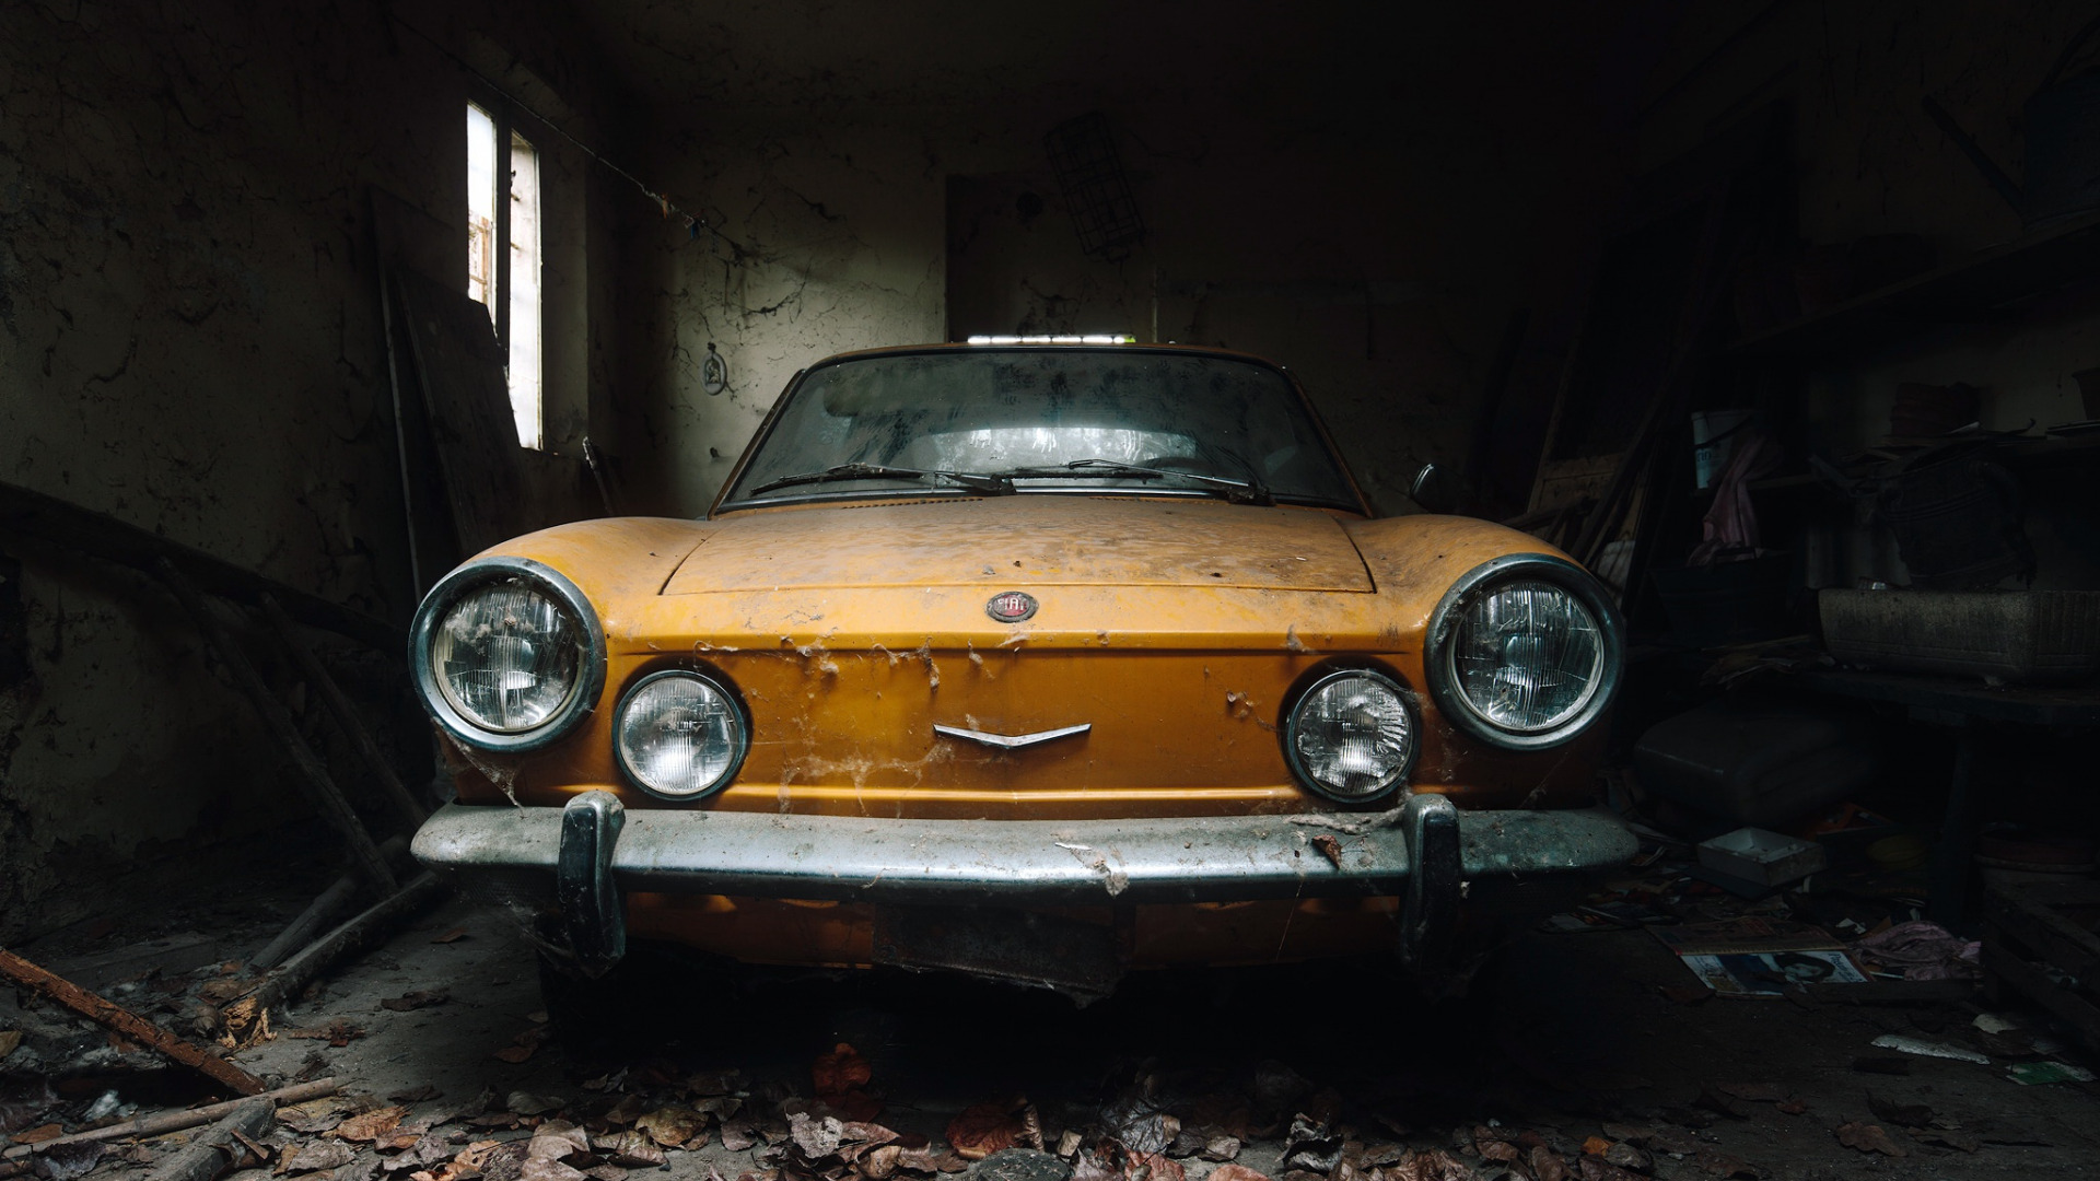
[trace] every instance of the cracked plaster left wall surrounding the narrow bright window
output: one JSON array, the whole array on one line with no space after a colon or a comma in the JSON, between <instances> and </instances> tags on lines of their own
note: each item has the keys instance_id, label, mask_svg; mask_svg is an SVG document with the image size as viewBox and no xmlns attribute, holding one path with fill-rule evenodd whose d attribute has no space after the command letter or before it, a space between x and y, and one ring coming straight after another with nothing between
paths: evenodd
<instances>
[{"instance_id":1,"label":"cracked plaster left wall surrounding the narrow bright window","mask_svg":"<svg viewBox=\"0 0 2100 1181\"><path fill-rule=\"evenodd\" d=\"M588 118L594 65L559 13L416 8ZM384 13L0 6L0 479L405 620L365 193L462 225L466 74ZM556 301L590 305L565 267ZM590 416L588 326L563 332L556 443ZM536 467L548 506L573 500L565 462ZM0 939L80 906L69 885L304 811L164 590L0 553Z\"/></svg>"}]
</instances>

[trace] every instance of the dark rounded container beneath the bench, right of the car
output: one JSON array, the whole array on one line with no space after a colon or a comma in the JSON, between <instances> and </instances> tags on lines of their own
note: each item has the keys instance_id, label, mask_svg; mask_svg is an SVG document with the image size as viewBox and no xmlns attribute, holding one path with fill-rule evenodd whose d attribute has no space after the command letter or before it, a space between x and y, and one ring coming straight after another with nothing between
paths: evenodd
<instances>
[{"instance_id":1,"label":"dark rounded container beneath the bench, right of the car","mask_svg":"<svg viewBox=\"0 0 2100 1181\"><path fill-rule=\"evenodd\" d=\"M1844 801L1880 769L1852 714L1718 700L1665 719L1634 744L1640 786L1732 824L1789 824Z\"/></svg>"}]
</instances>

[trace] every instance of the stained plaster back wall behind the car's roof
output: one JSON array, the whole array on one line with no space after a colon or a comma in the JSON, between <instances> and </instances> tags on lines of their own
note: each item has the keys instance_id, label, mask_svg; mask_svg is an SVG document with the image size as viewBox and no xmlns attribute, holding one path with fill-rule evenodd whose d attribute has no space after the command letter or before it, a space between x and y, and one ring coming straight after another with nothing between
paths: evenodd
<instances>
[{"instance_id":1,"label":"stained plaster back wall behind the car's roof","mask_svg":"<svg viewBox=\"0 0 2100 1181\"><path fill-rule=\"evenodd\" d=\"M632 284L664 305L634 324L620 410L662 513L706 511L808 361L951 330L1153 338L1155 290L1159 338L1298 370L1373 502L1409 511L1422 460L1466 462L1512 311L1571 298L1625 174L1598 63L1636 6L1529 6L1520 29L1218 11L1212 32L1163 11L1092 23L1090 4L907 6L899 32L777 4L704 40L662 4L613 8L609 53L695 95L657 113L643 170L733 237L634 233ZM769 69L796 38L832 57ZM1117 128L1151 231L1119 263L1079 252L1044 151L1088 109ZM699 380L710 343L722 395Z\"/></svg>"}]
</instances>

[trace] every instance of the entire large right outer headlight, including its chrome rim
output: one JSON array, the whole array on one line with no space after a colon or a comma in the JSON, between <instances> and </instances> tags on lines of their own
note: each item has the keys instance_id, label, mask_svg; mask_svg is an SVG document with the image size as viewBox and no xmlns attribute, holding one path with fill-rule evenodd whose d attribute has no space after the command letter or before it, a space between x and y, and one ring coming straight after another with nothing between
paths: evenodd
<instances>
[{"instance_id":1,"label":"entire large right outer headlight, including its chrome rim","mask_svg":"<svg viewBox=\"0 0 2100 1181\"><path fill-rule=\"evenodd\" d=\"M1445 717L1514 748L1567 742L1609 704L1619 624L1581 567L1497 559L1445 597L1430 628L1430 689Z\"/></svg>"}]
</instances>

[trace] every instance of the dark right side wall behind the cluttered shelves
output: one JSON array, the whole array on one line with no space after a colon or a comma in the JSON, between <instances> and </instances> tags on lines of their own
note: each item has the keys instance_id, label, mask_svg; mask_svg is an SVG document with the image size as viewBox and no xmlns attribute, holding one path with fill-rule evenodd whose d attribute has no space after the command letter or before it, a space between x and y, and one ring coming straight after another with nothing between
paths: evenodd
<instances>
[{"instance_id":1,"label":"dark right side wall behind the cluttered shelves","mask_svg":"<svg viewBox=\"0 0 2100 1181\"><path fill-rule=\"evenodd\" d=\"M2022 177L2022 105L2041 86L2090 4L1787 4L1714 6L1686 25L1659 78L1684 84L1659 101L1642 156L1657 164L1760 103L1793 111L1798 219L1808 244L1873 233L1919 233L1938 263L2020 237L2020 216L1922 109L1926 95L2016 181ZM1737 36L1737 32L1741 36ZM2087 44L2066 74L2100 65ZM2085 418L2073 372L2100 366L2100 301L2045 298L2026 319L1947 326L1894 347L1838 355L1806 385L1802 443L1846 454L1888 435L1903 382L1968 382L1982 389L1982 427L2020 431ZM2092 477L2056 475L2031 485L2029 534L2037 586L2100 584L2100 534ZM2068 513L2060 506L2071 506ZM1907 580L1886 534L1842 523L1812 540L1810 584L1854 578Z\"/></svg>"}]
</instances>

